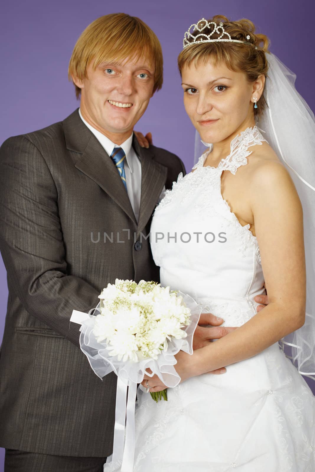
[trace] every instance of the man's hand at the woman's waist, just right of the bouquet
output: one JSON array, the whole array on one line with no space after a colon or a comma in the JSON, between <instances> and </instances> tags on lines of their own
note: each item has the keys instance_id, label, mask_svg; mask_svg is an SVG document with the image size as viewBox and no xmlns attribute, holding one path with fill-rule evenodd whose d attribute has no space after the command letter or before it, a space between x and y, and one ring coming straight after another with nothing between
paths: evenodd
<instances>
[{"instance_id":1,"label":"man's hand at the woman's waist, just right of the bouquet","mask_svg":"<svg viewBox=\"0 0 315 472\"><path fill-rule=\"evenodd\" d=\"M234 331L237 327L220 326L223 323L223 319L218 316L214 316L212 313L201 313L198 326L195 330L193 338L193 349L200 349L201 347L207 346L213 339L220 339L226 336L231 331ZM212 371L212 374L224 374L226 372L225 367Z\"/></svg>"}]
</instances>

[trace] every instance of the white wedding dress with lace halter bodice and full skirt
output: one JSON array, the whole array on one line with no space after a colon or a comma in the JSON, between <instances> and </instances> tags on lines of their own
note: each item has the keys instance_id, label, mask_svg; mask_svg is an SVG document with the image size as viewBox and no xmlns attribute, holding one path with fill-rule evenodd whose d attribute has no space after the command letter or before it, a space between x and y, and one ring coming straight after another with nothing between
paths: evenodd
<instances>
[{"instance_id":1,"label":"white wedding dress with lace halter bodice and full skirt","mask_svg":"<svg viewBox=\"0 0 315 472\"><path fill-rule=\"evenodd\" d=\"M262 141L256 126L247 128L218 168L203 167L202 155L153 215L162 286L191 295L225 326L255 316L264 276L256 237L221 196L221 173L235 174L247 164L247 148ZM134 471L314 472L315 397L278 343L223 375L169 388L167 402L138 389Z\"/></svg>"}]
</instances>

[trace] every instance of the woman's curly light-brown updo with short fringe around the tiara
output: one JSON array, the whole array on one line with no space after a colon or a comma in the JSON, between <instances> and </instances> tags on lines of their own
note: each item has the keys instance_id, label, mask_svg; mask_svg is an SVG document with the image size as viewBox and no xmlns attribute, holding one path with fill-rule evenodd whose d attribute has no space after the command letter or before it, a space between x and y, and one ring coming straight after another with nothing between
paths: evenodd
<instances>
[{"instance_id":1,"label":"woman's curly light-brown updo with short fringe around the tiara","mask_svg":"<svg viewBox=\"0 0 315 472\"><path fill-rule=\"evenodd\" d=\"M190 66L194 61L195 66L202 61L206 63L209 59L214 65L225 63L225 65L234 72L244 72L248 82L254 82L258 76L264 75L267 78L268 62L266 52L268 52L269 39L264 34L255 34L255 25L252 21L241 19L238 21L229 21L227 17L215 15L208 20L216 23L218 26L222 22L224 30L230 34L231 39L247 41L253 44L244 44L239 42L200 42L198 38L193 46L188 46L180 52L178 57L178 67L181 74L184 66ZM203 34L209 35L214 29L207 26L202 30ZM192 36L200 34L199 31L192 33ZM220 34L213 33L211 39L219 38ZM247 38L249 36L249 38ZM188 38L188 42L193 42L192 38ZM257 47L257 49L255 48ZM267 107L264 98L264 92L258 101L258 108L254 108L255 116L261 116Z\"/></svg>"}]
</instances>

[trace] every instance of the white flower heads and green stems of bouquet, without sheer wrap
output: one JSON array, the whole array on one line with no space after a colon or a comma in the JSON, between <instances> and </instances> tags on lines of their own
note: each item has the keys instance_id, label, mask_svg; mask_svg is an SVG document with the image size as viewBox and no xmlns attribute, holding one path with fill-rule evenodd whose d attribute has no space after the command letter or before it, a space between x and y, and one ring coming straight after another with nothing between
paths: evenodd
<instances>
[{"instance_id":1,"label":"white flower heads and green stems of bouquet, without sheer wrap","mask_svg":"<svg viewBox=\"0 0 315 472\"><path fill-rule=\"evenodd\" d=\"M190 310L170 287L156 282L119 280L102 290L100 314L95 317L94 335L106 342L110 356L118 361L157 359L172 338L187 337L182 328L190 324ZM166 390L151 393L155 401L167 400Z\"/></svg>"}]
</instances>

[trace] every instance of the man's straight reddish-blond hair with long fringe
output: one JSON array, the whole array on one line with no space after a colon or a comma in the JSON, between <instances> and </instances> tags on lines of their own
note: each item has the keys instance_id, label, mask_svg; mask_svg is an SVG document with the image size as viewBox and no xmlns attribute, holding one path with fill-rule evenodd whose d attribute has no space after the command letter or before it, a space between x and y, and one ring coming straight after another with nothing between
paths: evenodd
<instances>
[{"instance_id":1,"label":"man's straight reddish-blond hair with long fringe","mask_svg":"<svg viewBox=\"0 0 315 472\"><path fill-rule=\"evenodd\" d=\"M156 34L140 18L130 17L126 13L105 15L88 25L77 40L69 62L68 78L72 82L72 76L83 80L92 60L95 70L105 60L123 61L128 57L138 60L144 54L155 67L155 92L162 88L163 83L162 48ZM76 84L75 87L79 98L81 89Z\"/></svg>"}]
</instances>

